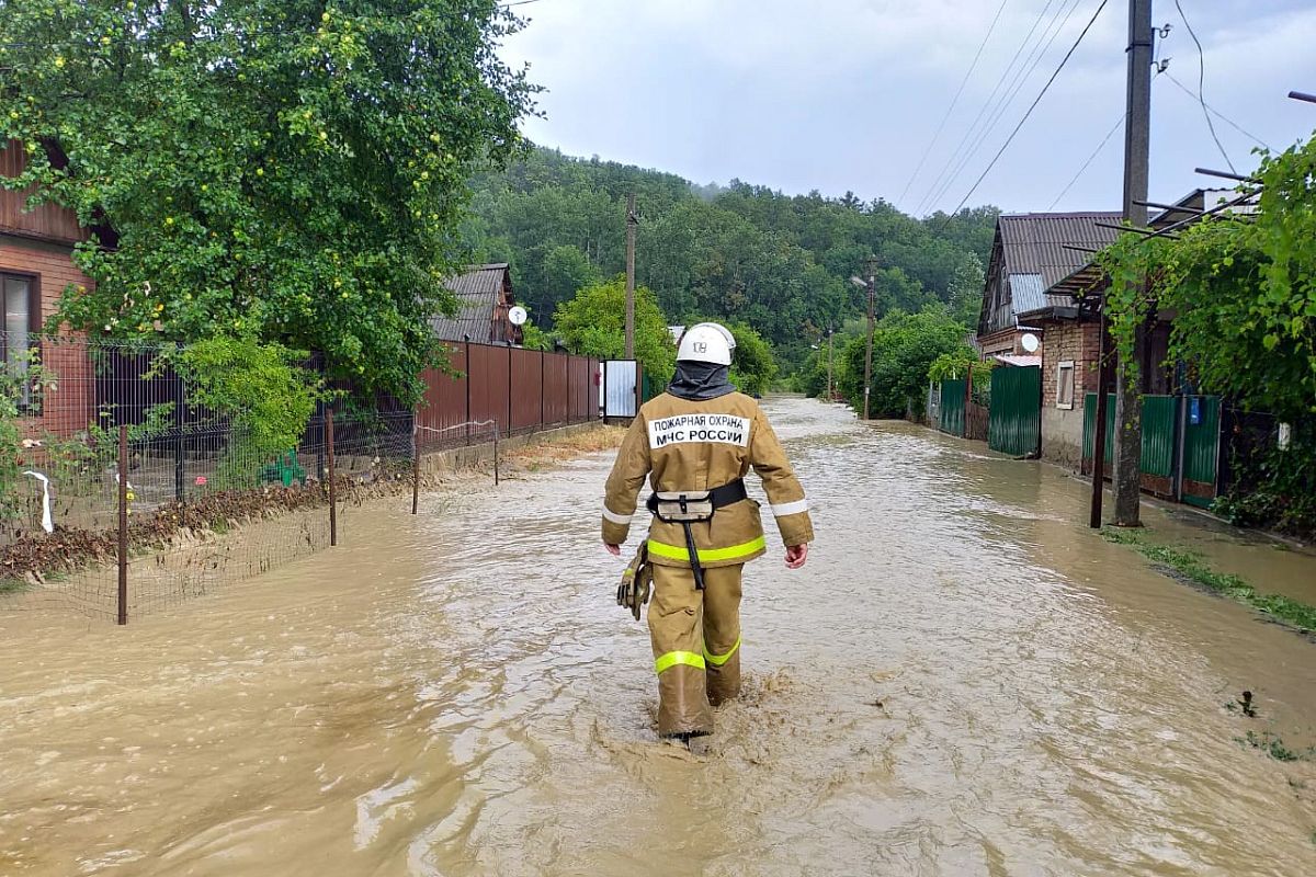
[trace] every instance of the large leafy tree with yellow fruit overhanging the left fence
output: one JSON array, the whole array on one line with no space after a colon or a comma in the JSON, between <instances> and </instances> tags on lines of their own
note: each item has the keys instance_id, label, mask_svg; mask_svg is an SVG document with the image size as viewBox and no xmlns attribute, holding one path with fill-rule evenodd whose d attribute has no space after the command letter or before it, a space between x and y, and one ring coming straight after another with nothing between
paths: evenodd
<instances>
[{"instance_id":1,"label":"large leafy tree with yellow fruit overhanging the left fence","mask_svg":"<svg viewBox=\"0 0 1316 877\"><path fill-rule=\"evenodd\" d=\"M59 317L320 350L415 396L466 181L532 109L495 51L516 25L491 0L0 4L0 120L26 153L4 184L95 231L95 289Z\"/></svg>"}]
</instances>

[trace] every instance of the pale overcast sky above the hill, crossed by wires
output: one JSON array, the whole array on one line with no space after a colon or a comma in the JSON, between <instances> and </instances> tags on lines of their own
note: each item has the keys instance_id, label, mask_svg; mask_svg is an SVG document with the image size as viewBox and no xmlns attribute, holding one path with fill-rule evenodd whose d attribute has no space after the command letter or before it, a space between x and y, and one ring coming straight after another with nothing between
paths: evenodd
<instances>
[{"instance_id":1,"label":"pale overcast sky above the hill, crossed by wires","mask_svg":"<svg viewBox=\"0 0 1316 877\"><path fill-rule=\"evenodd\" d=\"M1277 150L1309 137L1316 104L1286 95L1316 92L1316 3L1180 1L1205 50L1207 103ZM969 193L1099 4L536 0L517 7L528 25L503 55L529 63L532 80L547 89L540 96L545 118L525 125L537 143L696 183L738 178L829 196L851 189L924 214L953 209ZM929 151L998 9L978 66ZM1163 201L1209 183L1194 175L1195 166L1223 168L1225 160L1195 96L1198 50L1174 0L1155 0L1154 20L1173 25L1158 39L1159 55L1171 62L1152 97L1152 200ZM1051 204L1124 114L1126 29L1128 0L1108 0L970 206L1120 208L1123 129ZM1013 68L1024 75L1013 100L983 114L995 128L966 150L970 158L954 176L957 147L994 88L998 97L1015 91L1016 72L1005 72L1021 45ZM1255 142L1219 117L1215 124L1234 164L1254 167Z\"/></svg>"}]
</instances>

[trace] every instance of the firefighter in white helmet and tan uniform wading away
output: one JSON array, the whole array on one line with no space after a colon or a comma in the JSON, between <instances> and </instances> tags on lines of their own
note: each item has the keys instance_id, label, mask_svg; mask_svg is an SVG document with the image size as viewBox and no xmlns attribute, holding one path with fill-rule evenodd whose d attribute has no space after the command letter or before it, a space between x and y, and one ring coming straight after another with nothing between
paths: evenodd
<instances>
[{"instance_id":1,"label":"firefighter in white helmet and tan uniform wading away","mask_svg":"<svg viewBox=\"0 0 1316 877\"><path fill-rule=\"evenodd\" d=\"M751 467L763 481L790 569L804 565L813 540L804 489L772 427L758 404L730 384L734 346L717 323L686 331L671 385L641 406L621 443L603 506L603 543L620 556L649 479L646 506L654 518L619 602L629 600L638 618L647 593L634 584L644 581L647 592L651 580L658 735L686 743L712 732L709 706L740 693L741 572L766 551L759 504L745 493Z\"/></svg>"}]
</instances>

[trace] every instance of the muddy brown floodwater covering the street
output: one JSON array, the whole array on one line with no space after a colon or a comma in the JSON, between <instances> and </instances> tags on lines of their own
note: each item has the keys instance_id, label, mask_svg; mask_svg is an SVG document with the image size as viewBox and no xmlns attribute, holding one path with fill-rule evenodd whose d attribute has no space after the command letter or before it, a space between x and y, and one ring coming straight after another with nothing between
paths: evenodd
<instances>
[{"instance_id":1,"label":"muddy brown floodwater covering the street","mask_svg":"<svg viewBox=\"0 0 1316 877\"><path fill-rule=\"evenodd\" d=\"M819 542L751 567L701 753L654 742L596 456L126 628L0 615L0 874L1316 873L1316 765L1236 742L1316 743L1316 644L1076 526L1057 469L769 408Z\"/></svg>"}]
</instances>

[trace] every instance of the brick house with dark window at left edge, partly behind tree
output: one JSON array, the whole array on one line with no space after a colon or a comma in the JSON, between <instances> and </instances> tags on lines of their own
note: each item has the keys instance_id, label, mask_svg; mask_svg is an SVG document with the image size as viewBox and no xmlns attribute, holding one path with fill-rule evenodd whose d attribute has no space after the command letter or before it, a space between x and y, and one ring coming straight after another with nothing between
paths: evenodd
<instances>
[{"instance_id":1,"label":"brick house with dark window at left edge, partly behind tree","mask_svg":"<svg viewBox=\"0 0 1316 877\"><path fill-rule=\"evenodd\" d=\"M0 149L0 175L16 176L26 166L22 145L11 141ZM86 429L92 417L92 369L80 346L57 346L38 341L46 318L55 312L61 293L70 284L93 284L72 262L74 245L87 239L71 210L50 204L26 209L28 192L0 189L0 298L4 326L0 359L9 369L22 369L32 356L59 377L39 406L30 406L26 430L72 434ZM38 350L32 350L34 346Z\"/></svg>"}]
</instances>

